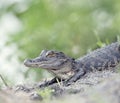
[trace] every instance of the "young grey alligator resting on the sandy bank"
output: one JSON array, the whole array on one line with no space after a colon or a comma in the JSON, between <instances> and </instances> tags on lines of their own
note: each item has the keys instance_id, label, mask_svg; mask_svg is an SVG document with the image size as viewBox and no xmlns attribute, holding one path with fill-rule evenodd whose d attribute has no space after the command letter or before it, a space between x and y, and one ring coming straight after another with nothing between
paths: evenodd
<instances>
[{"instance_id":1,"label":"young grey alligator resting on the sandy bank","mask_svg":"<svg viewBox=\"0 0 120 103\"><path fill-rule=\"evenodd\" d=\"M77 81L87 72L94 70L113 69L120 62L120 44L112 43L97 49L79 59L66 56L63 52L43 50L35 59L26 59L27 67L44 68L51 72L55 78L43 84L44 86L56 82L56 78L65 80L69 85Z\"/></svg>"}]
</instances>

